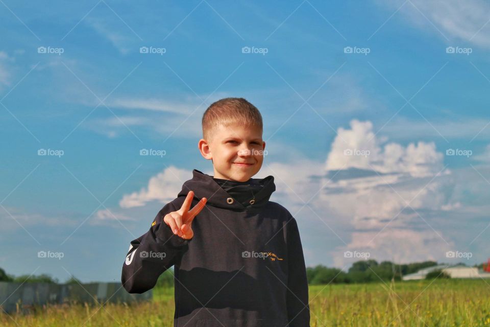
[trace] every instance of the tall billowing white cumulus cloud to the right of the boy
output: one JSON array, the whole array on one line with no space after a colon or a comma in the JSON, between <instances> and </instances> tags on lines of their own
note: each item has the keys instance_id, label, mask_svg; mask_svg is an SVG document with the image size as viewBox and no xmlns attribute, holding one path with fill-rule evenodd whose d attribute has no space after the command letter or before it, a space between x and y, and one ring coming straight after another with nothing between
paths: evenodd
<instances>
[{"instance_id":1,"label":"tall billowing white cumulus cloud to the right of the boy","mask_svg":"<svg viewBox=\"0 0 490 327\"><path fill-rule=\"evenodd\" d=\"M344 256L347 250L409 262L440 257L449 248L443 232L419 213L451 206L444 192L451 188L451 172L443 154L434 143L404 147L386 141L375 135L371 122L352 120L332 143L324 177L330 183L318 203L348 219L353 229L350 243L331 252L337 266L351 261ZM332 178L339 170L344 171ZM429 247L431 253L424 249L428 244L437 244Z\"/></svg>"}]
</instances>

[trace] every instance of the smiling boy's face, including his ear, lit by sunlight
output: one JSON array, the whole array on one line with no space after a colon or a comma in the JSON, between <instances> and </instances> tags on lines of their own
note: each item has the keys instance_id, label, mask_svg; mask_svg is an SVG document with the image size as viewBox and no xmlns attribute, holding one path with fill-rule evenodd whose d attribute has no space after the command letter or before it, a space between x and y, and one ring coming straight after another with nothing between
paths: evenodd
<instances>
[{"instance_id":1,"label":"smiling boy's face, including his ear, lit by sunlight","mask_svg":"<svg viewBox=\"0 0 490 327\"><path fill-rule=\"evenodd\" d=\"M206 159L213 160L215 178L247 181L258 173L265 149L260 128L220 125L212 135L211 142L199 141L199 149Z\"/></svg>"}]
</instances>

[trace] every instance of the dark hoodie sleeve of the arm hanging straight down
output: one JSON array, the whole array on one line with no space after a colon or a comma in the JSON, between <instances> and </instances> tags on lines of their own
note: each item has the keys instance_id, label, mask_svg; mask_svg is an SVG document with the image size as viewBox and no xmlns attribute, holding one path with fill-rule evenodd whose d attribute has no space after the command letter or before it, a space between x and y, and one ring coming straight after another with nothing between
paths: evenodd
<instances>
[{"instance_id":1,"label":"dark hoodie sleeve of the arm hanging straight down","mask_svg":"<svg viewBox=\"0 0 490 327\"><path fill-rule=\"evenodd\" d=\"M296 219L291 217L286 226L288 258L286 305L289 320L288 326L309 327L308 281L306 279L305 259Z\"/></svg>"}]
</instances>

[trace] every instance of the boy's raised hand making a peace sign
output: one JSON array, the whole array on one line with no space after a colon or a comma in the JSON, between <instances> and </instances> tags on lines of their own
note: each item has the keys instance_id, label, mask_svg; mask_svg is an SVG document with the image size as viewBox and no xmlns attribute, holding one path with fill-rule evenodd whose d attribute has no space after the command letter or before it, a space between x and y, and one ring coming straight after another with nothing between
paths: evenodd
<instances>
[{"instance_id":1,"label":"boy's raised hand making a peace sign","mask_svg":"<svg viewBox=\"0 0 490 327\"><path fill-rule=\"evenodd\" d=\"M193 198L194 192L189 191L184 203L182 203L182 207L178 211L171 212L163 217L163 221L170 226L170 229L174 231L174 234L185 240L189 240L194 236L194 232L192 231L192 220L194 220L194 217L201 212L207 201L206 198L202 198L198 204L189 210Z\"/></svg>"}]
</instances>

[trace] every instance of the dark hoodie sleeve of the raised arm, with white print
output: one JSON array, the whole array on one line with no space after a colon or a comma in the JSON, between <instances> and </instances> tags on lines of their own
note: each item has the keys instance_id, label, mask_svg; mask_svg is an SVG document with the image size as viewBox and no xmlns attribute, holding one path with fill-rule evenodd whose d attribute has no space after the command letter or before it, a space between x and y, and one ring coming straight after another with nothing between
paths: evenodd
<instances>
[{"instance_id":1,"label":"dark hoodie sleeve of the raised arm, with white print","mask_svg":"<svg viewBox=\"0 0 490 327\"><path fill-rule=\"evenodd\" d=\"M166 204L157 214L150 230L131 241L126 261L122 265L122 286L129 293L152 289L158 277L180 261L188 242L175 235L163 221L166 214L176 211L173 203Z\"/></svg>"}]
</instances>

